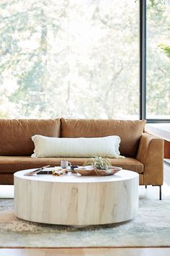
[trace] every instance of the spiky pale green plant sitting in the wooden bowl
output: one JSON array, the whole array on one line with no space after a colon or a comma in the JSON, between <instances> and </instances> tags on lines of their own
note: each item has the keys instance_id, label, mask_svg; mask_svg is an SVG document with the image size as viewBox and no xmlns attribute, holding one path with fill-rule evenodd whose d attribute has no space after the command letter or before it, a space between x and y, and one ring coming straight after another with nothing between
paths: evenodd
<instances>
[{"instance_id":1,"label":"spiky pale green plant sitting in the wooden bowl","mask_svg":"<svg viewBox=\"0 0 170 256\"><path fill-rule=\"evenodd\" d=\"M101 156L94 156L91 161L84 163L84 166L93 166L99 170L108 170L112 168L112 165L108 158L102 158Z\"/></svg>"}]
</instances>

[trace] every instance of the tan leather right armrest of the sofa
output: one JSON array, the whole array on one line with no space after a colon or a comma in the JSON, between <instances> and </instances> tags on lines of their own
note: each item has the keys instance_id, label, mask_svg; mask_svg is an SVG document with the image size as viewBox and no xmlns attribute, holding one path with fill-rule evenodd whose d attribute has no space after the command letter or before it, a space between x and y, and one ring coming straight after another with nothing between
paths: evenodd
<instances>
[{"instance_id":1,"label":"tan leather right armrest of the sofa","mask_svg":"<svg viewBox=\"0 0 170 256\"><path fill-rule=\"evenodd\" d=\"M143 133L136 159L144 165L144 184L162 185L164 179L164 140Z\"/></svg>"}]
</instances>

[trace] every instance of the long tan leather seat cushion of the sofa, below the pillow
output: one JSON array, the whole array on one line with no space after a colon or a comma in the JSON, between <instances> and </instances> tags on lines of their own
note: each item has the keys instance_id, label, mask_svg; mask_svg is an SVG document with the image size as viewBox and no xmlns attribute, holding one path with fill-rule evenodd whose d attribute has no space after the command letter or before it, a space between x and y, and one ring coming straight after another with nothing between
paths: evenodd
<instances>
[{"instance_id":1,"label":"long tan leather seat cushion of the sofa, below the pillow","mask_svg":"<svg viewBox=\"0 0 170 256\"><path fill-rule=\"evenodd\" d=\"M71 164L82 166L90 158L66 158ZM0 173L14 173L28 168L41 166L59 166L63 158L31 158L30 156L0 156ZM110 158L112 166L120 166L126 170L143 173L143 163L134 158Z\"/></svg>"}]
</instances>

